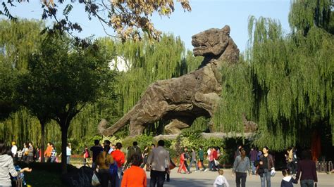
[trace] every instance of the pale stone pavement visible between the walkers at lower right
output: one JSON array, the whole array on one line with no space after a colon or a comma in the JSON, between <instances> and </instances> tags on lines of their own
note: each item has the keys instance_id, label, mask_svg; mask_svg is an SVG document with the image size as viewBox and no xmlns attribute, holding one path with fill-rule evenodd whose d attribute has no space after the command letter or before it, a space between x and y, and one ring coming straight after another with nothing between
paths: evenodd
<instances>
[{"instance_id":1,"label":"pale stone pavement visible between the walkers at lower right","mask_svg":"<svg viewBox=\"0 0 334 187\"><path fill-rule=\"evenodd\" d=\"M191 174L178 174L178 167L171 172L171 181L166 182L163 186L213 186L218 172L192 172ZM149 184L149 172L147 174L147 184ZM231 169L224 169L224 176L230 183L230 186L235 185L235 177L232 176ZM276 175L271 177L271 186L280 187L280 181L282 180L282 172L277 171ZM333 187L334 175L333 174L318 174L318 186L319 187ZM149 185L148 185L149 186ZM246 186L248 187L261 187L260 177L255 175L247 175ZM295 186L300 186L297 184Z\"/></svg>"}]
</instances>

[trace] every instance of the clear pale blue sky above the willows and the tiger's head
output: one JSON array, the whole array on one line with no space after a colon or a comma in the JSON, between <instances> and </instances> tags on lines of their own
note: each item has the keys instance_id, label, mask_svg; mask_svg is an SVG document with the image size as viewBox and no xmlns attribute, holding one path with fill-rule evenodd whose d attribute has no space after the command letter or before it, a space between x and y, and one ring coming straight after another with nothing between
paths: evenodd
<instances>
[{"instance_id":1,"label":"clear pale blue sky above the willows and the tiger's head","mask_svg":"<svg viewBox=\"0 0 334 187\"><path fill-rule=\"evenodd\" d=\"M69 1L69 0L68 0ZM191 12L184 12L178 3L175 3L175 11L170 18L154 15L151 19L154 26L163 32L173 33L185 42L185 47L192 50L191 37L198 32L209 28L222 28L230 25L230 35L239 47L245 51L248 40L248 18L254 15L279 20L285 32L290 32L287 16L290 11L290 0L190 0ZM39 0L30 3L18 4L16 8L10 8L11 13L20 18L40 19L42 8ZM84 6L75 6L70 13L70 19L78 22L83 31L80 37L89 37L92 34L97 37L106 36L97 19L88 20ZM108 29L113 34L112 29Z\"/></svg>"}]
</instances>

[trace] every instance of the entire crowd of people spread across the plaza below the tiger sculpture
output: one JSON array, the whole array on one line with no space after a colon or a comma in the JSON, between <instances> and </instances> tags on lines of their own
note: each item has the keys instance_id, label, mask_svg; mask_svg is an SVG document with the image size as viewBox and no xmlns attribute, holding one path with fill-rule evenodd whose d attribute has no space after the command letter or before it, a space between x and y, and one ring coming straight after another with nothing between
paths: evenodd
<instances>
[{"instance_id":1,"label":"entire crowd of people spread across the plaza below the tiger sculpture","mask_svg":"<svg viewBox=\"0 0 334 187\"><path fill-rule=\"evenodd\" d=\"M90 153L92 153L92 169L101 186L147 186L146 172L150 172L149 186L163 186L165 181L170 181L171 169L175 163L171 160L168 150L164 148L164 141L158 141L157 145L144 146L141 150L137 141L128 147L128 151L123 153L122 143L111 144L109 140L100 144L99 140L94 141L94 146L82 151L83 165L89 166ZM301 154L302 160L297 158L297 150L293 147L287 148L285 158L286 167L282 169L283 179L281 187L291 187L292 183L298 183L302 187L314 186L318 179L316 176L316 165L311 160L311 151L304 150ZM17 161L34 162L40 160L38 148L34 148L31 142L24 143L23 149L18 150L16 143L7 147L4 141L0 141L0 186L11 186L11 177L23 178L23 172L31 172L29 168L21 169L16 165ZM206 153L203 146L198 149L183 148L180 153L180 165L178 173L190 174L192 172L217 172L218 176L214 181L214 186L229 186L228 180L223 176L223 169L220 168L218 159L222 155L218 147L209 148ZM44 152L47 162L56 162L56 148L53 143L47 143ZM71 145L66 148L66 162L70 162ZM238 146L235 150L233 162L233 176L235 176L236 186L246 186L247 174L259 176L261 187L271 186L271 177L276 174L275 157L269 153L269 148L261 150L251 148L247 150ZM208 161L208 166L204 165L204 160ZM195 170L191 170L194 167ZM259 184L260 185L260 184Z\"/></svg>"}]
</instances>

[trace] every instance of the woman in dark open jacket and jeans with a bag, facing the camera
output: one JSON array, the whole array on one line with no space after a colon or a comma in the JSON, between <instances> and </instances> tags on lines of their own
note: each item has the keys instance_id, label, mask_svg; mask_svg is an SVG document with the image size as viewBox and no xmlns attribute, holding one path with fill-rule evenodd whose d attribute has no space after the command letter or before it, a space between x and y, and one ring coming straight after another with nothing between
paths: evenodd
<instances>
[{"instance_id":1,"label":"woman in dark open jacket and jeans with a bag, facing the camera","mask_svg":"<svg viewBox=\"0 0 334 187\"><path fill-rule=\"evenodd\" d=\"M261 187L271 187L271 170L275 170L273 156L268 153L269 148L265 146L262 149L262 155L259 161L259 176L261 177Z\"/></svg>"}]
</instances>

